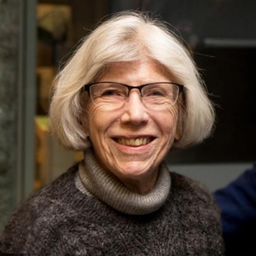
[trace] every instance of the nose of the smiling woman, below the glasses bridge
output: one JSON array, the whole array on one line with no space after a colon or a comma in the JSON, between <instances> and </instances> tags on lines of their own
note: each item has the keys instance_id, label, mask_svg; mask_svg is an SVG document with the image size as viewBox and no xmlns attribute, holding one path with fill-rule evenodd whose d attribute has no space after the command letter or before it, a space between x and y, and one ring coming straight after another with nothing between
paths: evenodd
<instances>
[{"instance_id":1,"label":"nose of the smiling woman, below the glasses bridge","mask_svg":"<svg viewBox=\"0 0 256 256\"><path fill-rule=\"evenodd\" d=\"M138 90L130 91L120 121L130 125L142 125L148 123L148 109L145 108Z\"/></svg>"}]
</instances>

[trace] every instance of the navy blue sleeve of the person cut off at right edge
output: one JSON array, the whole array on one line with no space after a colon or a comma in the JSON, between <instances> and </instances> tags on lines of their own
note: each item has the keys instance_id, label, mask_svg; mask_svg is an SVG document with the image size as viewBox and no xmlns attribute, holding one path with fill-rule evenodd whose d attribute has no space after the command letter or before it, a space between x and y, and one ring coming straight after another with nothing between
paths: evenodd
<instances>
[{"instance_id":1,"label":"navy blue sleeve of the person cut off at right edge","mask_svg":"<svg viewBox=\"0 0 256 256\"><path fill-rule=\"evenodd\" d=\"M213 193L221 210L226 255L256 255L256 163Z\"/></svg>"}]
</instances>

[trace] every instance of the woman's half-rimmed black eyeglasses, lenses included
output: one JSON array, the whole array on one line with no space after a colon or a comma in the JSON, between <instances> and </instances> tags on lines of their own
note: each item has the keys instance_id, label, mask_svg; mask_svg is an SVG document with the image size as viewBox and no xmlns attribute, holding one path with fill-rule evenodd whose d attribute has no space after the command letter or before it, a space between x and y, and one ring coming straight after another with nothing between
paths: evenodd
<instances>
[{"instance_id":1,"label":"woman's half-rimmed black eyeglasses, lenses included","mask_svg":"<svg viewBox=\"0 0 256 256\"><path fill-rule=\"evenodd\" d=\"M171 82L159 82L131 86L114 82L97 82L84 84L83 89L87 91L92 102L108 104L113 108L119 108L128 99L131 90L138 90L142 102L148 108L157 108L164 104L173 106L183 91L182 84Z\"/></svg>"}]
</instances>

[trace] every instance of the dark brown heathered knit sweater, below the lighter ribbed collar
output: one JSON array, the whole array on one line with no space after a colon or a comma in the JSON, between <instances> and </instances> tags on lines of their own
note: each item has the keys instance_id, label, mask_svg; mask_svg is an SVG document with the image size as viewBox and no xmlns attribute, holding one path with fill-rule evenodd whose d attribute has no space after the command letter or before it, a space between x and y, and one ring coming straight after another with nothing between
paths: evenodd
<instances>
[{"instance_id":1,"label":"dark brown heathered knit sweater, below the lighter ribbed collar","mask_svg":"<svg viewBox=\"0 0 256 256\"><path fill-rule=\"evenodd\" d=\"M0 255L224 255L212 195L188 177L168 172L172 186L161 207L138 215L91 194L78 170L81 163L15 212Z\"/></svg>"}]
</instances>

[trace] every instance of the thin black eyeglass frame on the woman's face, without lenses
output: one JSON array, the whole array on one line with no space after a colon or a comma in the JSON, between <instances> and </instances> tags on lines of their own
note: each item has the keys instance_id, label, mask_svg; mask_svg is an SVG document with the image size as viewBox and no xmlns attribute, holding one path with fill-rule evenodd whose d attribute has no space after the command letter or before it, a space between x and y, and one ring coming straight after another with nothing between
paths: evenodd
<instances>
[{"instance_id":1,"label":"thin black eyeglass frame on the woman's face, without lenses","mask_svg":"<svg viewBox=\"0 0 256 256\"><path fill-rule=\"evenodd\" d=\"M90 95L90 86L92 86L94 84L120 84L120 85L124 85L128 89L128 94L127 94L126 97L129 97L130 92L131 92L132 89L139 90L140 96L142 96L143 87L145 87L147 85L150 85L150 84L174 84L174 85L177 85L177 87L178 87L177 96L179 96L184 90L184 85L183 84L177 84L177 83L172 83L172 82L154 82L154 83L149 83L149 84L142 84L142 85L139 85L139 86L131 86L129 84L122 84L122 83L117 83L117 82L104 81L104 82L94 82L94 83L90 83L90 84L84 84L84 86L82 88L83 88L83 90L87 91Z\"/></svg>"}]
</instances>

